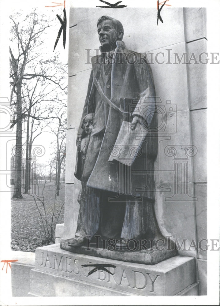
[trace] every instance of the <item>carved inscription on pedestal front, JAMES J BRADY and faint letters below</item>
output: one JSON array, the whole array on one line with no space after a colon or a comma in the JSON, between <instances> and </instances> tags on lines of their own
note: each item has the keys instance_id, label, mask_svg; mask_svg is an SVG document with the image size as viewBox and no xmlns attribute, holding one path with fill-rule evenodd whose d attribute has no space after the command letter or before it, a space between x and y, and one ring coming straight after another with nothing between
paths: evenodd
<instances>
[{"instance_id":1,"label":"carved inscription on pedestal front, JAMES J BRADY and faint letters below","mask_svg":"<svg viewBox=\"0 0 220 306\"><path fill-rule=\"evenodd\" d=\"M88 272L91 270L91 267L82 267L82 264L92 264L87 261L76 259L74 257L60 256L58 254L52 254L47 252L38 252L36 259L36 268L43 269L43 267L48 268L53 273L61 273L62 275L68 275L73 277L76 280L89 281L97 280L97 285L106 285L114 287L117 289L132 288L139 290L146 290L151 293L155 293L155 283L158 282L158 277L160 275L147 273L142 268L142 271L136 271L131 267L121 267L120 265L116 268L109 268L109 271L112 274L107 273L103 270L98 270L95 273L88 276ZM45 268L44 268L45 269ZM108 285L109 284L109 285ZM76 291L78 291L77 286L82 286L76 284ZM90 288L93 290L92 288ZM80 287L80 292L82 288ZM99 290L100 291L100 290ZM88 293L88 292L87 292ZM90 292L91 293L91 292ZM76 294L76 293L74 293ZM91 293L92 294L92 293ZM96 293L94 293L96 295ZM99 292L99 295L102 295Z\"/></svg>"}]
</instances>

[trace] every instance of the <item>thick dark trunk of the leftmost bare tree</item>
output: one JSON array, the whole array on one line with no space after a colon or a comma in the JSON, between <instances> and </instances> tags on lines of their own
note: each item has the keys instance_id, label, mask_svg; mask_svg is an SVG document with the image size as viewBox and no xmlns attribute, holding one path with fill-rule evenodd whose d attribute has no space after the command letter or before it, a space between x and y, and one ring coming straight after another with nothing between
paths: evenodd
<instances>
[{"instance_id":1,"label":"thick dark trunk of the leftmost bare tree","mask_svg":"<svg viewBox=\"0 0 220 306\"><path fill-rule=\"evenodd\" d=\"M22 107L21 107L21 81L16 86L17 101L16 101L16 152L15 152L15 190L13 199L21 198L21 183L22 183Z\"/></svg>"}]
</instances>

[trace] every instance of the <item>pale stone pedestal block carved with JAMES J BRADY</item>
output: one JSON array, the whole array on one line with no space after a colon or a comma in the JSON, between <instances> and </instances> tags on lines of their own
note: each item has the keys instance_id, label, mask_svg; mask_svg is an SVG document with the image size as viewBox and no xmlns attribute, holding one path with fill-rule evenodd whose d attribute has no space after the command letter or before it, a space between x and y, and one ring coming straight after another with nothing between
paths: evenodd
<instances>
[{"instance_id":1,"label":"pale stone pedestal block carved with JAMES J BRADY","mask_svg":"<svg viewBox=\"0 0 220 306\"><path fill-rule=\"evenodd\" d=\"M94 268L103 264L110 273ZM198 295L195 259L175 256L155 265L128 263L62 250L59 244L36 249L29 296Z\"/></svg>"}]
</instances>

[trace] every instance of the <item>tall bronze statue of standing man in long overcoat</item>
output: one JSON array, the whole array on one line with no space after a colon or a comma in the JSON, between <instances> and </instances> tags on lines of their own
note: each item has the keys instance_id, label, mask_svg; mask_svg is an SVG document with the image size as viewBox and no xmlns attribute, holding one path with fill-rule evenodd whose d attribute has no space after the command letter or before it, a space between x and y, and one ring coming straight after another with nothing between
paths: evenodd
<instances>
[{"instance_id":1,"label":"tall bronze statue of standing man in long overcoat","mask_svg":"<svg viewBox=\"0 0 220 306\"><path fill-rule=\"evenodd\" d=\"M98 233L107 239L124 238L125 246L126 239L148 240L160 235L154 214L154 162L158 149L155 87L146 58L125 47L121 22L102 16L97 28L101 54L91 58L82 114L83 120L94 113L93 128L83 172L76 164L75 176L84 188L75 238L68 244L81 245L86 236ZM77 147L83 136L82 120ZM137 141L142 136L131 163L110 159L125 122L130 132L139 127ZM132 149L132 143L121 146Z\"/></svg>"}]
</instances>

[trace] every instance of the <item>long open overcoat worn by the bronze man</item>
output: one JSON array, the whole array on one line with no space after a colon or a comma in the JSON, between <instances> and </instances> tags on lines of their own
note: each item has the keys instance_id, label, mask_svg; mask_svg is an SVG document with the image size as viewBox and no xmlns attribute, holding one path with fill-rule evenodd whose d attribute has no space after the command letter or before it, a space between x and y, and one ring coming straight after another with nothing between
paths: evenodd
<instances>
[{"instance_id":1,"label":"long open overcoat worn by the bronze man","mask_svg":"<svg viewBox=\"0 0 220 306\"><path fill-rule=\"evenodd\" d=\"M99 83L103 54L91 58L92 71L80 126L84 116L91 112L95 92L108 105L109 112L98 158L91 160L92 152L87 152L82 177L88 179L88 187L154 200L154 161L158 138L153 75L144 54L126 49L122 41L117 41L116 45L112 59L110 99L105 96ZM122 122L131 122L134 115L139 116L147 127L147 132L143 130L145 139L140 152L131 166L109 162ZM83 130L79 128L78 135L82 133ZM81 179L79 173L79 163L76 163L75 176Z\"/></svg>"}]
</instances>

